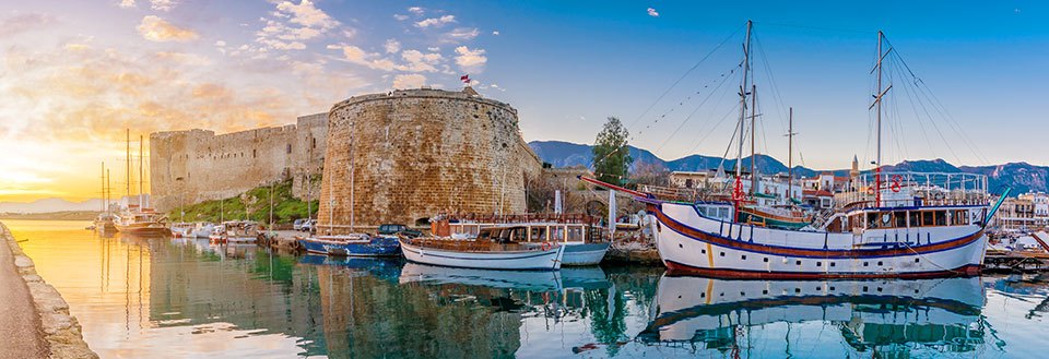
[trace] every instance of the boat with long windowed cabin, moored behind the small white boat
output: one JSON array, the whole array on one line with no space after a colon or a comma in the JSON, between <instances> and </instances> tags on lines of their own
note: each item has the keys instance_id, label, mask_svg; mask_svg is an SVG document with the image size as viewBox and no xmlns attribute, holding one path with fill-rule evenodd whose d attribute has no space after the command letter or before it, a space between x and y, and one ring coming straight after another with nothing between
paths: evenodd
<instances>
[{"instance_id":1,"label":"boat with long windowed cabin, moored behind the small white boat","mask_svg":"<svg viewBox=\"0 0 1049 359\"><path fill-rule=\"evenodd\" d=\"M435 237L474 239L483 228L521 229L516 240L530 243L556 242L565 246L562 265L597 265L604 259L611 241L599 219L584 214L462 215L438 216L432 223Z\"/></svg>"}]
</instances>

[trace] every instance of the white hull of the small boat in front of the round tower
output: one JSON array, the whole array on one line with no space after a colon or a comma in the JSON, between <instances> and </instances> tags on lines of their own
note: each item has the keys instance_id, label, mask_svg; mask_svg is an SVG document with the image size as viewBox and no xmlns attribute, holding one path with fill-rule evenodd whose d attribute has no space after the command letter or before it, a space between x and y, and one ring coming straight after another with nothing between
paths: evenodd
<instances>
[{"instance_id":1,"label":"white hull of the small boat in front of the round tower","mask_svg":"<svg viewBox=\"0 0 1049 359\"><path fill-rule=\"evenodd\" d=\"M409 261L422 264L479 270L557 271L564 259L565 246L545 251L460 252L421 248L402 240L401 251Z\"/></svg>"}]
</instances>

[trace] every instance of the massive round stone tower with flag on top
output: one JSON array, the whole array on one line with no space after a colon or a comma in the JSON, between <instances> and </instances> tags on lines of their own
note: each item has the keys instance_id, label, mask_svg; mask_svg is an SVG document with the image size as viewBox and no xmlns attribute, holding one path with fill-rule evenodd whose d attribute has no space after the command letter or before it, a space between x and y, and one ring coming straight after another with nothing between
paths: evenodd
<instances>
[{"instance_id":1,"label":"massive round stone tower with flag on top","mask_svg":"<svg viewBox=\"0 0 1049 359\"><path fill-rule=\"evenodd\" d=\"M351 97L328 113L319 234L428 226L439 213L523 213L542 170L517 110L462 92Z\"/></svg>"}]
</instances>

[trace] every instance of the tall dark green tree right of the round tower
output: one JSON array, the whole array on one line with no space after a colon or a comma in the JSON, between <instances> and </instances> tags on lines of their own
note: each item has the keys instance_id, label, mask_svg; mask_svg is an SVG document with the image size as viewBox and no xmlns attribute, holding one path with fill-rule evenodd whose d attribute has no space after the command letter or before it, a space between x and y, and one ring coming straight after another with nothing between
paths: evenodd
<instances>
[{"instance_id":1,"label":"tall dark green tree right of the round tower","mask_svg":"<svg viewBox=\"0 0 1049 359\"><path fill-rule=\"evenodd\" d=\"M622 186L630 168L630 151L627 146L629 132L620 119L609 117L593 143L593 172L598 180Z\"/></svg>"}]
</instances>

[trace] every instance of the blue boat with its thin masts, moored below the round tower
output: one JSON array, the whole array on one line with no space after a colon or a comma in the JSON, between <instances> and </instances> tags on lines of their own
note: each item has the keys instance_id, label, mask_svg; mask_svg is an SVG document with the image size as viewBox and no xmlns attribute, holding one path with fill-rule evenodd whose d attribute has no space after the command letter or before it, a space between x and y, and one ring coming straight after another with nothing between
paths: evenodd
<instances>
[{"instance_id":1,"label":"blue boat with its thin masts, moored below the round tower","mask_svg":"<svg viewBox=\"0 0 1049 359\"><path fill-rule=\"evenodd\" d=\"M353 160L353 133L355 131L351 130L350 133L350 229L353 230L354 227L354 160ZM333 170L331 172L334 172ZM377 236L372 237L367 234L347 234L347 235L332 235L331 229L334 228L334 190L333 182L334 178L330 175L325 175L328 178L328 235L323 236L313 236L313 237L298 237L298 244L309 253L317 254L327 254L327 255L343 255L343 256L397 256L401 254L401 244L398 241L397 237L390 236Z\"/></svg>"}]
</instances>

